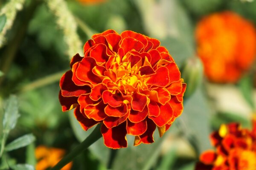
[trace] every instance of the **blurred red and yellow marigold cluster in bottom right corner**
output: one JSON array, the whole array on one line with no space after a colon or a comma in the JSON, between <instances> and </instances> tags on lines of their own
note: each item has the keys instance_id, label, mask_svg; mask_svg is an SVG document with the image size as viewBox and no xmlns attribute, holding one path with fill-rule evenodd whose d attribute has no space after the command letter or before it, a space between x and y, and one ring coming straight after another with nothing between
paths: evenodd
<instances>
[{"instance_id":1,"label":"blurred red and yellow marigold cluster in bottom right corner","mask_svg":"<svg viewBox=\"0 0 256 170\"><path fill-rule=\"evenodd\" d=\"M242 129L238 123L221 125L210 135L216 151L201 154L195 170L256 170L256 133Z\"/></svg>"}]
</instances>

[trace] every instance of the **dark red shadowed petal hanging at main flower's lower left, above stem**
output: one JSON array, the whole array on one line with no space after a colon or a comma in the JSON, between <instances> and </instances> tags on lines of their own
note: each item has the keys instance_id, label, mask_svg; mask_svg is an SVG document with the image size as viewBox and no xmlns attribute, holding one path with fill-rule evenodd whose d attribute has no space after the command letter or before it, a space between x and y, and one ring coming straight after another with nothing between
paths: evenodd
<instances>
[{"instance_id":1,"label":"dark red shadowed petal hanging at main flower's lower left, above stem","mask_svg":"<svg viewBox=\"0 0 256 170\"><path fill-rule=\"evenodd\" d=\"M93 127L94 125L99 123L93 119L88 119L88 118L84 117L83 114L80 112L79 105L75 108L74 115L84 130L88 130L91 127Z\"/></svg>"}]
</instances>

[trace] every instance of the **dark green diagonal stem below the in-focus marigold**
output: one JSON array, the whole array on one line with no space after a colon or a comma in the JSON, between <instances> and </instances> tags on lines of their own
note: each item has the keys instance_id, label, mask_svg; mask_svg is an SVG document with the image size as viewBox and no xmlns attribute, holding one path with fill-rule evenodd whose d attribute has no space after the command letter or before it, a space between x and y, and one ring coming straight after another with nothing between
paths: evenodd
<instances>
[{"instance_id":1,"label":"dark green diagonal stem below the in-focus marigold","mask_svg":"<svg viewBox=\"0 0 256 170\"><path fill-rule=\"evenodd\" d=\"M66 164L72 161L76 156L78 156L80 153L86 150L91 144L93 144L98 139L100 139L102 137L102 134L100 133L100 127L101 127L101 124L97 125L93 130L93 132L90 133L90 135L86 139L84 139L83 142L81 142L69 154L64 156L64 158L62 158L61 161L58 162L58 164L52 167L51 170L60 170L62 167L64 167Z\"/></svg>"}]
</instances>

